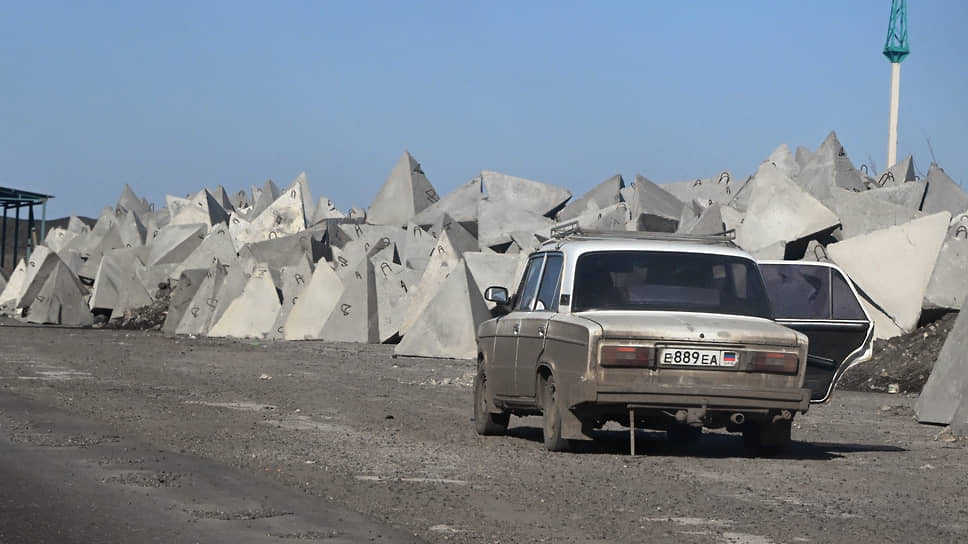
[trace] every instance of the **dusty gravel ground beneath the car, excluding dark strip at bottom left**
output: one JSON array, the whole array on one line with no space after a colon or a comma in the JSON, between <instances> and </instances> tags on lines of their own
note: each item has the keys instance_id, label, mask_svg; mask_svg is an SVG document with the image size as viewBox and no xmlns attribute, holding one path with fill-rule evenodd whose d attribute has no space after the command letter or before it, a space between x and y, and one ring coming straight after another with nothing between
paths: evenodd
<instances>
[{"instance_id":1,"label":"dusty gravel ground beneath the car, excluding dark strip at bottom left","mask_svg":"<svg viewBox=\"0 0 968 544\"><path fill-rule=\"evenodd\" d=\"M633 458L627 431L618 429L582 453L554 454L542 448L538 418L512 418L505 437L474 433L470 362L393 358L392 346L9 321L0 346L0 399L7 399L0 443L95 458L77 465L88 468L77 468L76 478L131 467L90 478L105 493L180 487L196 500L193 482L215 468L232 470L304 494L320 510L345 509L438 543L968 541L968 448L916 423L913 395L837 391L795 421L794 447L777 459L747 457L734 435L708 432L681 452L664 434L645 431ZM52 440L36 408L4 408L10 399L101 430ZM105 436L142 446L101 453ZM146 448L151 459L201 461L151 464ZM273 497L249 498L273 519L292 515ZM171 515L164 504L155 507ZM207 512L184 515L210 522ZM215 517L230 527L251 522L244 514ZM342 541L356 540L393 541Z\"/></svg>"}]
</instances>

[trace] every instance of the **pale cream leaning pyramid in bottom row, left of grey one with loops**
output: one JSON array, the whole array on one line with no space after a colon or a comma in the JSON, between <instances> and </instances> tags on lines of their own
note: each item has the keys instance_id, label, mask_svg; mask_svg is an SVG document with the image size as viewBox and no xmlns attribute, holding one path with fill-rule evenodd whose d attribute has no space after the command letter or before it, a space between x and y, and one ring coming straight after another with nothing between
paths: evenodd
<instances>
[{"instance_id":1,"label":"pale cream leaning pyramid in bottom row, left of grey one with loops","mask_svg":"<svg viewBox=\"0 0 968 544\"><path fill-rule=\"evenodd\" d=\"M320 260L313 270L309 285L299 296L286 319L286 340L321 337L323 325L343 295L343 282L330 263Z\"/></svg>"}]
</instances>

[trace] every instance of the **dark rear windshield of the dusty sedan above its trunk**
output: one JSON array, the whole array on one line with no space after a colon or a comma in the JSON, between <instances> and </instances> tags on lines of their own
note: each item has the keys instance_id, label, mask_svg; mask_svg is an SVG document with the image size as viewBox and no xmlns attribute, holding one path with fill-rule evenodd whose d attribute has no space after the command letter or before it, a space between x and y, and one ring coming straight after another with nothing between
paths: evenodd
<instances>
[{"instance_id":1,"label":"dark rear windshield of the dusty sedan above its trunk","mask_svg":"<svg viewBox=\"0 0 968 544\"><path fill-rule=\"evenodd\" d=\"M770 318L756 263L708 253L609 251L578 258L573 311L658 310Z\"/></svg>"}]
</instances>

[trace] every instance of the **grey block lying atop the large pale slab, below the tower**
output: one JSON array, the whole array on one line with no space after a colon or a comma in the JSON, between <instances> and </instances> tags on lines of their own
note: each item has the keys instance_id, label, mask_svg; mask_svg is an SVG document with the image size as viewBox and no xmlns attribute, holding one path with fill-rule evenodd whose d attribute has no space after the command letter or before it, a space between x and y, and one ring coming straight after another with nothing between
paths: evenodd
<instances>
[{"instance_id":1,"label":"grey block lying atop the large pale slab, below the tower","mask_svg":"<svg viewBox=\"0 0 968 544\"><path fill-rule=\"evenodd\" d=\"M917 209L878 198L872 195L873 192L857 193L839 187L831 189L831 196L824 201L824 205L840 219L841 239L901 225L925 215Z\"/></svg>"}]
</instances>

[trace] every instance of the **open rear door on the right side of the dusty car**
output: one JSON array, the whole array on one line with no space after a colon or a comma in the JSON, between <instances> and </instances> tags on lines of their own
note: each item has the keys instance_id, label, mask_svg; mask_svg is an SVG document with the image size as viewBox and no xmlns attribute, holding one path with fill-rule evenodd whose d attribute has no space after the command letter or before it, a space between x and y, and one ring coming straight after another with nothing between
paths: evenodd
<instances>
[{"instance_id":1,"label":"open rear door on the right side of the dusty car","mask_svg":"<svg viewBox=\"0 0 968 544\"><path fill-rule=\"evenodd\" d=\"M810 338L805 387L810 402L826 402L844 372L873 354L874 324L857 290L831 263L760 261L760 271L781 325Z\"/></svg>"}]
</instances>

